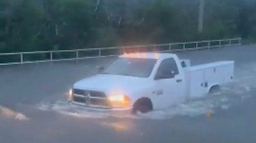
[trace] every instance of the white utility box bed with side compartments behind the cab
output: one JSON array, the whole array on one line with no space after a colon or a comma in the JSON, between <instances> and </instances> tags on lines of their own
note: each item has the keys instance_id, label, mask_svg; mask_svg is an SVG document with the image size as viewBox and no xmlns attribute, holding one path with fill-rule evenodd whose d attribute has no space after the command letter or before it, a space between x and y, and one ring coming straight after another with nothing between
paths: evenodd
<instances>
[{"instance_id":1,"label":"white utility box bed with side compartments behind the cab","mask_svg":"<svg viewBox=\"0 0 256 143\"><path fill-rule=\"evenodd\" d=\"M221 86L234 79L234 61L200 64L184 68L187 98L201 98L212 86Z\"/></svg>"}]
</instances>

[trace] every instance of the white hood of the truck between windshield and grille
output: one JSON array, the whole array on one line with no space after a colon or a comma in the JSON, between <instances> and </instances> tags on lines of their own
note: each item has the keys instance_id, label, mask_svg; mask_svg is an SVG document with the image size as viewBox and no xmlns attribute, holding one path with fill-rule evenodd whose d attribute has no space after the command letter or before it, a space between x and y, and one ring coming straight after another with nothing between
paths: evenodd
<instances>
[{"instance_id":1,"label":"white hood of the truck between windshield and grille","mask_svg":"<svg viewBox=\"0 0 256 143\"><path fill-rule=\"evenodd\" d=\"M148 81L148 78L99 74L79 80L74 84L74 88L104 91L106 93L128 93L150 86Z\"/></svg>"}]
</instances>

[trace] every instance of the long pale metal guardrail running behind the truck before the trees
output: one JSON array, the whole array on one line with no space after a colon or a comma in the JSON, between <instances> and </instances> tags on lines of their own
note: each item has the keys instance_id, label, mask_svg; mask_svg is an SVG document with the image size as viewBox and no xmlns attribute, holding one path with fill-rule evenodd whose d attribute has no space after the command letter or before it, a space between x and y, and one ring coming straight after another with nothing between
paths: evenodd
<instances>
[{"instance_id":1,"label":"long pale metal guardrail running behind the truck before the trees","mask_svg":"<svg viewBox=\"0 0 256 143\"><path fill-rule=\"evenodd\" d=\"M185 50L212 49L214 47L225 47L231 45L241 45L241 38L189 41L157 45L136 45L129 47L108 47L97 49L0 53L0 65L68 61L95 57L110 57L118 56L125 52L173 52Z\"/></svg>"}]
</instances>

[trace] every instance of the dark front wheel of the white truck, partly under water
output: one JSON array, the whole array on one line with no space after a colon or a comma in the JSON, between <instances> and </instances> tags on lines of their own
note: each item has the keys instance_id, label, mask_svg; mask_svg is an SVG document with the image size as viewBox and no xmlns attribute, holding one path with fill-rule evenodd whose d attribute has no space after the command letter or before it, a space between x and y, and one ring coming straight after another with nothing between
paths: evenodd
<instances>
[{"instance_id":1,"label":"dark front wheel of the white truck, partly under water","mask_svg":"<svg viewBox=\"0 0 256 143\"><path fill-rule=\"evenodd\" d=\"M137 114L138 112L147 113L153 110L152 102L148 98L141 98L134 103L132 107L132 114Z\"/></svg>"}]
</instances>

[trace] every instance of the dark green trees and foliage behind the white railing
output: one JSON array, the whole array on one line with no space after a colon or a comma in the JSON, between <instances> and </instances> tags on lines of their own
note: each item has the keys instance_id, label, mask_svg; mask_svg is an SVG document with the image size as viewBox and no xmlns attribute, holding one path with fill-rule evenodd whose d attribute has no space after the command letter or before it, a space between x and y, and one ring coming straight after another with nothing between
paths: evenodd
<instances>
[{"instance_id":1,"label":"dark green trees and foliage behind the white railing","mask_svg":"<svg viewBox=\"0 0 256 143\"><path fill-rule=\"evenodd\" d=\"M0 0L0 52L256 38L256 1Z\"/></svg>"}]
</instances>

